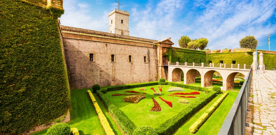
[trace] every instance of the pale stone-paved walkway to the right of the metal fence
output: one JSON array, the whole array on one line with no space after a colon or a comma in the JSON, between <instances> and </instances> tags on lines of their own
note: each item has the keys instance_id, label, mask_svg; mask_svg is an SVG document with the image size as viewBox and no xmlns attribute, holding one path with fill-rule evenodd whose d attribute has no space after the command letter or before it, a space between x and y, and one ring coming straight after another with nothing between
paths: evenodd
<instances>
[{"instance_id":1,"label":"pale stone-paved walkway to the right of the metal fence","mask_svg":"<svg viewBox=\"0 0 276 135\"><path fill-rule=\"evenodd\" d=\"M274 71L266 70L264 75L276 81ZM276 135L276 88L264 75L253 72L253 135Z\"/></svg>"}]
</instances>

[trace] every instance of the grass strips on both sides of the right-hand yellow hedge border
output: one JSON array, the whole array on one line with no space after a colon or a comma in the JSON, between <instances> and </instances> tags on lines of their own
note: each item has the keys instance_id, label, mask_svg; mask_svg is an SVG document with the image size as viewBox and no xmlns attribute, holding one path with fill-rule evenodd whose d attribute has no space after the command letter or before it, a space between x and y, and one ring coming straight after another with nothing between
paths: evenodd
<instances>
[{"instance_id":1,"label":"grass strips on both sides of the right-hand yellow hedge border","mask_svg":"<svg viewBox=\"0 0 276 135\"><path fill-rule=\"evenodd\" d=\"M219 107L215 110L213 114L208 118L208 120L199 128L199 130L195 133L198 135L208 135L208 134L218 134L224 119L226 118L229 110L231 109L236 96L238 95L238 91L230 90L228 91L228 96L224 99L224 101L219 105ZM206 106L196 112L189 120L187 120L178 130L175 132L175 135L192 135L189 132L190 126L207 110L212 104L217 101L217 99L222 96L222 94L215 97L212 101L210 101Z\"/></svg>"}]
</instances>

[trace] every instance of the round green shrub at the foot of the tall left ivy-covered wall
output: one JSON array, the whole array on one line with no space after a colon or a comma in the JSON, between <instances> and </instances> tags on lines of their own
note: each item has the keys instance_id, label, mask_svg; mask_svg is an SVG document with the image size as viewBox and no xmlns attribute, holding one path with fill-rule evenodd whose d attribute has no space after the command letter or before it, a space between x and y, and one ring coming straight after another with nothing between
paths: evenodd
<instances>
[{"instance_id":1,"label":"round green shrub at the foot of the tall left ivy-covered wall","mask_svg":"<svg viewBox=\"0 0 276 135\"><path fill-rule=\"evenodd\" d=\"M70 135L71 129L67 123L57 123L47 130L47 135Z\"/></svg>"}]
</instances>

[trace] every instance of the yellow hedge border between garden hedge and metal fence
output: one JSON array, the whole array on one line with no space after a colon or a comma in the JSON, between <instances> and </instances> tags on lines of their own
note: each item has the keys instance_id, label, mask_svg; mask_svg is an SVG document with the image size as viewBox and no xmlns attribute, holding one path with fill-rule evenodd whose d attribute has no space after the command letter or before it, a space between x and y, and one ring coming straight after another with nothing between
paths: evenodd
<instances>
[{"instance_id":1,"label":"yellow hedge border between garden hedge and metal fence","mask_svg":"<svg viewBox=\"0 0 276 135\"><path fill-rule=\"evenodd\" d=\"M208 109L202 114L195 123L189 128L191 133L197 132L198 128L208 119L208 117L214 112L214 110L219 106L219 104L226 98L228 92L221 91L222 96Z\"/></svg>"}]
</instances>

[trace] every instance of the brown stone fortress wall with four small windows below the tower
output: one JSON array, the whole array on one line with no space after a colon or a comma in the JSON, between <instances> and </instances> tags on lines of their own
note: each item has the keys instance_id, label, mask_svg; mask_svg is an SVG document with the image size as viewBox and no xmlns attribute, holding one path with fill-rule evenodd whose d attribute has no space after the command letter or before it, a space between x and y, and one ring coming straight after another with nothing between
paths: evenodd
<instances>
[{"instance_id":1,"label":"brown stone fortress wall with four small windows below the tower","mask_svg":"<svg viewBox=\"0 0 276 135\"><path fill-rule=\"evenodd\" d=\"M71 89L158 80L157 49L153 43L65 31L62 36ZM89 61L90 53L94 54L93 62ZM111 62L112 54L115 62ZM129 55L132 62L129 62Z\"/></svg>"}]
</instances>

